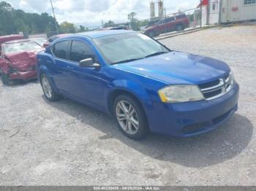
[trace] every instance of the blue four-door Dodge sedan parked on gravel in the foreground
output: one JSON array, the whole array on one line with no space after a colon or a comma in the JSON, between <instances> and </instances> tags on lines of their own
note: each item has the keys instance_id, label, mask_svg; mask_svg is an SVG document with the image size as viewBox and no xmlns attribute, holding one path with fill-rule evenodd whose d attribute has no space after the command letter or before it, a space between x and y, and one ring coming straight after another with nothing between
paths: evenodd
<instances>
[{"instance_id":1,"label":"blue four-door Dodge sedan parked on gravel in the foreground","mask_svg":"<svg viewBox=\"0 0 256 191\"><path fill-rule=\"evenodd\" d=\"M62 95L107 112L130 139L206 133L238 109L239 87L226 63L133 31L57 39L37 55L37 74L49 101Z\"/></svg>"}]
</instances>

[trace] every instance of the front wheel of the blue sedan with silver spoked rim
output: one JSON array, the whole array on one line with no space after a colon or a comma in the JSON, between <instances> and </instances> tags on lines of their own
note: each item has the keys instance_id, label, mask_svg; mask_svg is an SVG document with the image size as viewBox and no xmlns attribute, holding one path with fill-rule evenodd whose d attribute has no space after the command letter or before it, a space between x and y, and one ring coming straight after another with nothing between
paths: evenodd
<instances>
[{"instance_id":1,"label":"front wheel of the blue sedan with silver spoked rim","mask_svg":"<svg viewBox=\"0 0 256 191\"><path fill-rule=\"evenodd\" d=\"M148 133L146 115L134 98L118 95L113 104L113 114L118 128L129 139L143 139Z\"/></svg>"}]
</instances>

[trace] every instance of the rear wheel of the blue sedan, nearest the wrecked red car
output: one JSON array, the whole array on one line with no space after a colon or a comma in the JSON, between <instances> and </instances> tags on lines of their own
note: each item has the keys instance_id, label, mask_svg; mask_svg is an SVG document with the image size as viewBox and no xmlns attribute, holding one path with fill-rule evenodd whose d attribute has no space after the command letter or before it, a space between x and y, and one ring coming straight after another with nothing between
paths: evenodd
<instances>
[{"instance_id":1,"label":"rear wheel of the blue sedan, nearest the wrecked red car","mask_svg":"<svg viewBox=\"0 0 256 191\"><path fill-rule=\"evenodd\" d=\"M50 79L45 74L42 74L41 76L41 85L45 98L47 98L49 101L59 100L59 94L54 91L53 86L50 83Z\"/></svg>"}]
</instances>

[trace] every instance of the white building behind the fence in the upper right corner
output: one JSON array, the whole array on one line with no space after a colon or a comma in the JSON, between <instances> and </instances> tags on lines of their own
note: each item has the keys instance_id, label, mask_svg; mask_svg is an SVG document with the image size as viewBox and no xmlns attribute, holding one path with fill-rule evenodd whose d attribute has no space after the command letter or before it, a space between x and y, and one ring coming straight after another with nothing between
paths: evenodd
<instances>
[{"instance_id":1,"label":"white building behind the fence in the upper right corner","mask_svg":"<svg viewBox=\"0 0 256 191\"><path fill-rule=\"evenodd\" d=\"M256 20L256 0L202 1L203 26L244 20Z\"/></svg>"}]
</instances>

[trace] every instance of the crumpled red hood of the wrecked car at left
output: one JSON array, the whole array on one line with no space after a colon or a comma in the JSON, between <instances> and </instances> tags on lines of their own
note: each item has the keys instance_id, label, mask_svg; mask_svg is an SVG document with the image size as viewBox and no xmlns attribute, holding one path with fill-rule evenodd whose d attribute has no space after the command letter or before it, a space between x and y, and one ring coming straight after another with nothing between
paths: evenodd
<instances>
[{"instance_id":1,"label":"crumpled red hood of the wrecked car at left","mask_svg":"<svg viewBox=\"0 0 256 191\"><path fill-rule=\"evenodd\" d=\"M9 65L18 71L33 70L36 64L37 52L19 52L4 55Z\"/></svg>"}]
</instances>

